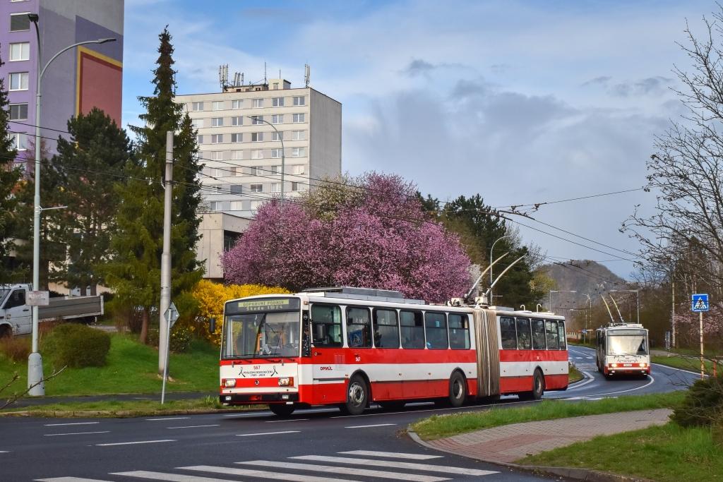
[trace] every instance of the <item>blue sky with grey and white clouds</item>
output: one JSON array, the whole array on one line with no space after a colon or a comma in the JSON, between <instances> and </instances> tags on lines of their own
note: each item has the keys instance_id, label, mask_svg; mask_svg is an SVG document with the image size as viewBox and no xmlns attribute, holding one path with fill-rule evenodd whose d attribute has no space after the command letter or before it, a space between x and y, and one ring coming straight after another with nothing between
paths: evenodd
<instances>
[{"instance_id":1,"label":"blue sky with grey and white clouds","mask_svg":"<svg viewBox=\"0 0 723 482\"><path fill-rule=\"evenodd\" d=\"M137 96L153 92L168 24L179 94L217 92L221 64L253 82L266 62L269 77L281 70L292 87L309 64L311 87L343 105L343 171L398 173L442 201L479 193L493 207L643 186L654 137L683 112L672 69L690 65L677 45L686 20L697 32L716 9L645 0L125 5L124 124L137 123ZM594 259L630 278L632 257L614 249L638 246L618 230L654 200L637 190L515 219L523 241L549 257Z\"/></svg>"}]
</instances>

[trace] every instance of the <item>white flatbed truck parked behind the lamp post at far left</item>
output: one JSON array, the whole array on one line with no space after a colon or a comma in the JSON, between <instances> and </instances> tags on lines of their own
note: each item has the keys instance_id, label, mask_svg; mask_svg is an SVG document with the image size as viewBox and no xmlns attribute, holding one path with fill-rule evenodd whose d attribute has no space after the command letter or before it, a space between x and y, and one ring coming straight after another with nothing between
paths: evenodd
<instances>
[{"instance_id":1,"label":"white flatbed truck parked behind the lamp post at far left","mask_svg":"<svg viewBox=\"0 0 723 482\"><path fill-rule=\"evenodd\" d=\"M0 338L27 335L33 331L33 307L25 304L29 284L0 285ZM62 296L50 298L47 306L38 307L38 321L76 319L93 321L103 314L103 295Z\"/></svg>"}]
</instances>

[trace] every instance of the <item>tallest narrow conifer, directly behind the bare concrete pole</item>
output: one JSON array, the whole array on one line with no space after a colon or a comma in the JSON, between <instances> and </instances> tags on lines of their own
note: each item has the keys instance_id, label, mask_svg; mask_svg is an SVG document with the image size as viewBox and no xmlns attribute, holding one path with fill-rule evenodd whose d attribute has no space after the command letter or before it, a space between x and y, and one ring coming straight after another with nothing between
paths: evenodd
<instances>
[{"instance_id":1,"label":"tallest narrow conifer, directly behind the bare concrete pole","mask_svg":"<svg viewBox=\"0 0 723 482\"><path fill-rule=\"evenodd\" d=\"M200 185L197 145L184 106L174 102L176 81L174 48L168 27L158 35L157 67L153 71L153 97L140 97L145 126L132 126L137 137L136 155L127 165L126 182L117 186L121 199L118 233L111 241L114 259L106 266L108 284L121 303L140 307L140 340L145 343L150 314L161 298L163 253L163 179L166 165L166 131L174 136L173 217L171 218L171 296L183 314L189 292L200 280L202 269L195 258L199 239L197 207Z\"/></svg>"}]
</instances>

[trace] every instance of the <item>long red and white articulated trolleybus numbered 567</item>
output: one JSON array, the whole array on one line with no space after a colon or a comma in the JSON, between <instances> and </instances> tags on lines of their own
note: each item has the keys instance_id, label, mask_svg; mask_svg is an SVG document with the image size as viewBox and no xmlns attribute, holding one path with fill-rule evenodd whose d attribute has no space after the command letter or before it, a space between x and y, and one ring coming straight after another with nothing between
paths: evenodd
<instances>
[{"instance_id":1,"label":"long red and white articulated trolleybus numbered 567","mask_svg":"<svg viewBox=\"0 0 723 482\"><path fill-rule=\"evenodd\" d=\"M227 301L221 403L295 408L542 397L568 386L565 319L442 306L397 291L323 288Z\"/></svg>"}]
</instances>

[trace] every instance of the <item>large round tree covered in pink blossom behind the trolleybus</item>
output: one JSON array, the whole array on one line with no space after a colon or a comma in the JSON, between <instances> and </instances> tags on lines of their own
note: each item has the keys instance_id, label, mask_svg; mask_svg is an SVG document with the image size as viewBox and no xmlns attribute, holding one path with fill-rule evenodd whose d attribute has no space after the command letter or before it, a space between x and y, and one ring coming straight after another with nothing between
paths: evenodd
<instances>
[{"instance_id":1,"label":"large round tree covered in pink blossom behind the trolleybus","mask_svg":"<svg viewBox=\"0 0 723 482\"><path fill-rule=\"evenodd\" d=\"M325 202L319 215L312 194L302 203L268 202L222 259L231 283L281 285L292 291L323 285L398 290L445 301L471 284L459 238L426 220L416 189L398 176L370 173L351 196ZM327 198L328 200L328 198Z\"/></svg>"}]
</instances>

